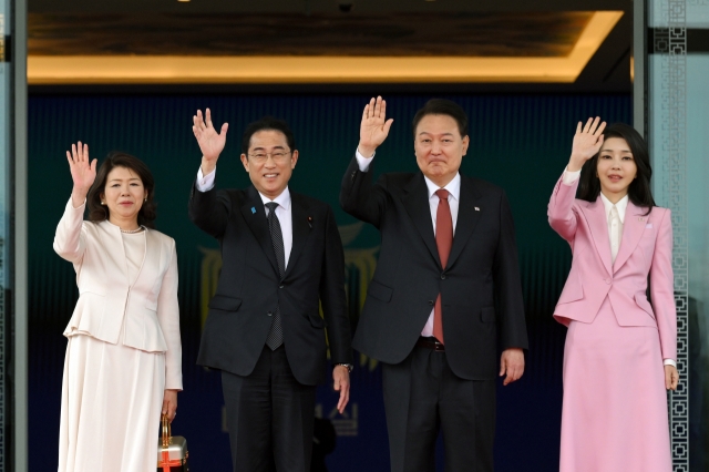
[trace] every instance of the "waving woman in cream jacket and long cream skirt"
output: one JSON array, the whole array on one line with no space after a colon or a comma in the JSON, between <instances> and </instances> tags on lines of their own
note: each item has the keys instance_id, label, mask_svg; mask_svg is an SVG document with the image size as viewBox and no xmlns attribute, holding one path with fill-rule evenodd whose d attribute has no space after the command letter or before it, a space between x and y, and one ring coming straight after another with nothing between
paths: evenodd
<instances>
[{"instance_id":1,"label":"waving woman in cream jacket and long cream skirt","mask_svg":"<svg viewBox=\"0 0 709 472\"><path fill-rule=\"evenodd\" d=\"M154 472L161 413L172 421L182 390L175 242L152 229L144 163L114 154L96 175L81 142L66 157L74 187L54 250L80 295L64 330L59 471Z\"/></svg>"}]
</instances>

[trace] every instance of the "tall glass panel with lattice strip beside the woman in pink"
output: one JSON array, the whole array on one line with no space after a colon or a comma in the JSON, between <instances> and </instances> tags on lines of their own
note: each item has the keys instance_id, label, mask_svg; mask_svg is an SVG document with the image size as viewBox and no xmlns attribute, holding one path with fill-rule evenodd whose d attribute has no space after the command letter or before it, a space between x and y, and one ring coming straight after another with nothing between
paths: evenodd
<instances>
[{"instance_id":1,"label":"tall glass panel with lattice strip beside the woman in pink","mask_svg":"<svg viewBox=\"0 0 709 472\"><path fill-rule=\"evenodd\" d=\"M676 471L709 471L709 0L653 0L649 144L657 204L672 209L681 389L671 396ZM702 50L702 48L705 48Z\"/></svg>"}]
</instances>

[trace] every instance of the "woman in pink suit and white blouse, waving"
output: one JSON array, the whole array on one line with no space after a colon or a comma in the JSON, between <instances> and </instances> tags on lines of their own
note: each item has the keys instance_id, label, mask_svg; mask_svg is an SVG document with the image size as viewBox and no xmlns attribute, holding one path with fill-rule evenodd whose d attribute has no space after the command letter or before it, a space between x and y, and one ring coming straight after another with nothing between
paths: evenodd
<instances>
[{"instance_id":1,"label":"woman in pink suit and white blouse, waving","mask_svg":"<svg viewBox=\"0 0 709 472\"><path fill-rule=\"evenodd\" d=\"M568 327L559 470L670 472L665 389L679 379L670 212L655 206L640 135L605 126L578 123L548 206L574 255L554 310Z\"/></svg>"}]
</instances>

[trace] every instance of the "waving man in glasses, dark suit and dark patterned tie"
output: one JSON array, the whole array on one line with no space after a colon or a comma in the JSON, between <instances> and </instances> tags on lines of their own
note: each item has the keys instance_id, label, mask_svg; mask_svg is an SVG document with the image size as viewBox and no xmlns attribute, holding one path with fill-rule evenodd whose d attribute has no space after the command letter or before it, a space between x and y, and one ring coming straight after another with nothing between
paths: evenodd
<instances>
[{"instance_id":1,"label":"waving man in glasses, dark suit and dark patterned tie","mask_svg":"<svg viewBox=\"0 0 709 472\"><path fill-rule=\"evenodd\" d=\"M203 157L189 218L222 249L197 363L222 371L235 472L308 472L326 329L340 412L349 400L352 353L335 215L289 189L298 150L286 122L250 123L242 164L253 185L217 191L228 126L218 133L208 109L206 120L197 112L193 121Z\"/></svg>"}]
</instances>

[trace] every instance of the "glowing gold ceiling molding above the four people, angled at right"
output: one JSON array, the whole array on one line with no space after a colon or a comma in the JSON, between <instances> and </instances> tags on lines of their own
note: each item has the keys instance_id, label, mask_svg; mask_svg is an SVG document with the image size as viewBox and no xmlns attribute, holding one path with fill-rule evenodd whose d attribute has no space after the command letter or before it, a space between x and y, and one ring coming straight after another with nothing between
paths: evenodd
<instances>
[{"instance_id":1,"label":"glowing gold ceiling molding above the four people, angled at right","mask_svg":"<svg viewBox=\"0 0 709 472\"><path fill-rule=\"evenodd\" d=\"M571 83L621 11L594 12L567 57L30 55L35 84Z\"/></svg>"}]
</instances>

